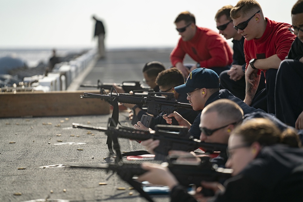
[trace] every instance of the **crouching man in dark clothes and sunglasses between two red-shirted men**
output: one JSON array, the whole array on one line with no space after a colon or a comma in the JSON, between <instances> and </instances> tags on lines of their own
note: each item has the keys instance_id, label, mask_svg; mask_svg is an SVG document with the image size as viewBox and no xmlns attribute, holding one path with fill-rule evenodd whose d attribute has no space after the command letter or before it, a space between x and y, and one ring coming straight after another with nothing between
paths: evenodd
<instances>
[{"instance_id":1,"label":"crouching man in dark clothes and sunglasses between two red-shirted men","mask_svg":"<svg viewBox=\"0 0 303 202\"><path fill-rule=\"evenodd\" d=\"M233 21L230 17L232 5L225 5L218 10L215 15L215 21L219 34L226 39L233 39L232 63L229 70L223 71L220 77L220 88L227 89L237 98L244 100L245 98L245 55L244 55L244 37L238 34L234 28ZM265 88L265 78L261 76L257 93Z\"/></svg>"}]
</instances>

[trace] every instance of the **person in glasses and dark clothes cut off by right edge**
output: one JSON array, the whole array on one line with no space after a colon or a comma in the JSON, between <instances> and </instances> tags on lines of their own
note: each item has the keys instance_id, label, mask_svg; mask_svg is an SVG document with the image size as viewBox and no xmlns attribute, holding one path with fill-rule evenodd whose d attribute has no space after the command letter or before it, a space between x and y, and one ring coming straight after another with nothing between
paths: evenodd
<instances>
[{"instance_id":1,"label":"person in glasses and dark clothes cut off by right edge","mask_svg":"<svg viewBox=\"0 0 303 202\"><path fill-rule=\"evenodd\" d=\"M297 37L286 60L280 64L275 88L276 116L284 123L303 129L303 0L291 10L289 31Z\"/></svg>"}]
</instances>

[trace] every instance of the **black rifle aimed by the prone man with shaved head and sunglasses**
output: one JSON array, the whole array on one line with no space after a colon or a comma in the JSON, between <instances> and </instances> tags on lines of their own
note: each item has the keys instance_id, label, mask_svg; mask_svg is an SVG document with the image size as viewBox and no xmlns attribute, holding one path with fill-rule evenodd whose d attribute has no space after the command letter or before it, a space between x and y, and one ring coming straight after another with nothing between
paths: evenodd
<instances>
[{"instance_id":1,"label":"black rifle aimed by the prone man with shaved head and sunglasses","mask_svg":"<svg viewBox=\"0 0 303 202\"><path fill-rule=\"evenodd\" d=\"M220 156L227 159L227 144L202 142L192 136L188 136L188 128L184 126L156 125L155 131L152 132L124 126L109 126L105 128L73 123L73 127L103 131L106 135L115 138L121 137L137 141L148 140L150 138L160 140L159 146L154 149L155 160L159 161L165 161L169 150L194 151L199 147L206 149L208 152L220 151Z\"/></svg>"}]
</instances>

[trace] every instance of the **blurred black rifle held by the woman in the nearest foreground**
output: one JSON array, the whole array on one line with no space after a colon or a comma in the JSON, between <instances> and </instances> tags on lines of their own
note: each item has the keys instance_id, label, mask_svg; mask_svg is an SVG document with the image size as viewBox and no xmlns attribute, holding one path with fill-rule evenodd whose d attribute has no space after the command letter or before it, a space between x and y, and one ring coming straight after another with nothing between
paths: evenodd
<instances>
[{"instance_id":1,"label":"blurred black rifle held by the woman in the nearest foreground","mask_svg":"<svg viewBox=\"0 0 303 202\"><path fill-rule=\"evenodd\" d=\"M169 159L168 162L162 163L162 166L167 166L171 173L176 177L178 182L186 187L194 184L196 187L201 186L201 181L220 181L231 177L232 169L218 167L217 164L209 161L209 157L201 157L201 162L193 161L179 161L176 160L178 156ZM149 161L154 162L154 161ZM159 163L159 161L155 161ZM144 174L145 170L141 168L140 163L123 162L116 164L108 164L108 166L91 166L91 165L69 165L70 167L80 168L98 168L105 169L107 172L113 171L117 173L123 180L133 186L143 197L148 201L153 201L151 197L145 193L141 188L141 183L133 179L134 176ZM213 196L212 190L203 189L202 193L205 196Z\"/></svg>"}]
</instances>

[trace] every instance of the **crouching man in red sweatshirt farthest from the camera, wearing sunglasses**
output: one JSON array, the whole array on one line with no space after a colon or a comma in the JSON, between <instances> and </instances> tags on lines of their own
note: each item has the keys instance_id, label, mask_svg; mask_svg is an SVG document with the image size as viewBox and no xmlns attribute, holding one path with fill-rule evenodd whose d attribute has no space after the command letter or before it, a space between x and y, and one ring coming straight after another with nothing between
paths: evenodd
<instances>
[{"instance_id":1,"label":"crouching man in red sweatshirt farthest from the camera, wearing sunglasses","mask_svg":"<svg viewBox=\"0 0 303 202\"><path fill-rule=\"evenodd\" d=\"M195 16L190 12L180 13L175 19L175 25L181 38L171 52L170 60L185 78L195 68L210 68L218 75L229 69L232 50L218 33L196 26ZM185 67L183 60L186 54L197 64Z\"/></svg>"}]
</instances>

